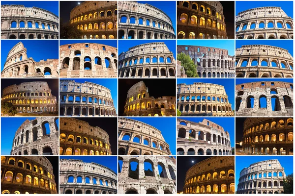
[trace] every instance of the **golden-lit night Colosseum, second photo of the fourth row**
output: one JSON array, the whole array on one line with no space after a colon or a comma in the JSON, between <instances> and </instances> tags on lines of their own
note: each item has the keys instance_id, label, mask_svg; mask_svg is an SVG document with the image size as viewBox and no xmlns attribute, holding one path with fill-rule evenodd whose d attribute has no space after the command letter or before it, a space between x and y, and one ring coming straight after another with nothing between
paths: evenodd
<instances>
[{"instance_id":1,"label":"golden-lit night Colosseum, second photo of the fourth row","mask_svg":"<svg viewBox=\"0 0 295 196\"><path fill-rule=\"evenodd\" d=\"M74 118L60 118L60 155L112 155L110 136L102 128Z\"/></svg>"}]
</instances>

